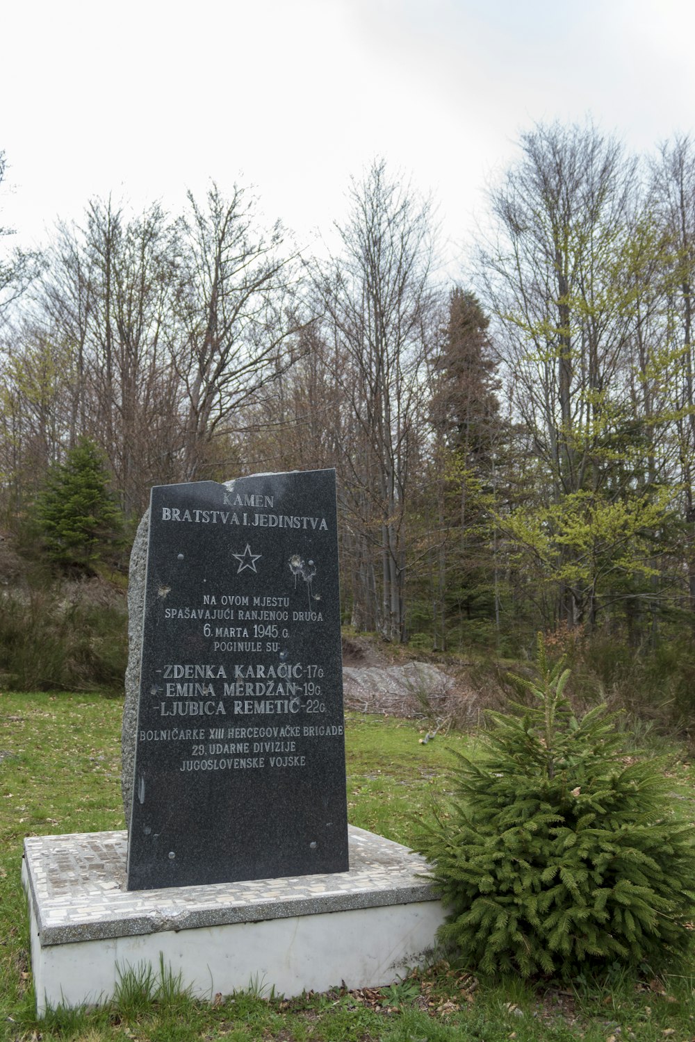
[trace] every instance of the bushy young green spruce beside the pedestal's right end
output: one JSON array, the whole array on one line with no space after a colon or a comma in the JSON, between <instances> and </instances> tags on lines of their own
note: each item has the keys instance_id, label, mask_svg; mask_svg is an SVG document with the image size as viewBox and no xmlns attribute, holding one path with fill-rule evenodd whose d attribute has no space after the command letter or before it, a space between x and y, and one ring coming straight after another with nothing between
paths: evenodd
<instances>
[{"instance_id":1,"label":"bushy young green spruce beside the pedestal's right end","mask_svg":"<svg viewBox=\"0 0 695 1042\"><path fill-rule=\"evenodd\" d=\"M417 848L449 909L441 940L480 972L565 979L663 966L691 943L695 826L664 765L624 754L604 706L581 719L539 638L530 704L490 713L479 759L455 753L454 799Z\"/></svg>"}]
</instances>

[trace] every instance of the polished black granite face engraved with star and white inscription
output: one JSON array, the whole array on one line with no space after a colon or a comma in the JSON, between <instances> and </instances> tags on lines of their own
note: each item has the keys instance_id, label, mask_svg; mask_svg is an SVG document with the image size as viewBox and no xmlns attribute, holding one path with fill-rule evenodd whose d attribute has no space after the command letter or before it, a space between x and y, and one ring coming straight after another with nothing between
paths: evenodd
<instances>
[{"instance_id":1,"label":"polished black granite face engraved with star and white inscription","mask_svg":"<svg viewBox=\"0 0 695 1042\"><path fill-rule=\"evenodd\" d=\"M332 470L152 489L127 887L348 869Z\"/></svg>"}]
</instances>

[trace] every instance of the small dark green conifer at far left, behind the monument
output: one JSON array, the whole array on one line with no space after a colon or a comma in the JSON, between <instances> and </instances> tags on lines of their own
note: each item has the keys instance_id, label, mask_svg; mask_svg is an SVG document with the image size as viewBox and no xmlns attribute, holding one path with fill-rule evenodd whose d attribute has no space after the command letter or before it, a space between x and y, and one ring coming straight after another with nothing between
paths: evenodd
<instances>
[{"instance_id":1,"label":"small dark green conifer at far left, behind the monument","mask_svg":"<svg viewBox=\"0 0 695 1042\"><path fill-rule=\"evenodd\" d=\"M108 488L101 452L82 439L53 467L36 501L46 551L57 564L89 570L121 532L121 511Z\"/></svg>"}]
</instances>

